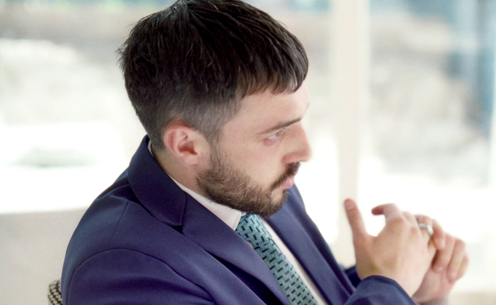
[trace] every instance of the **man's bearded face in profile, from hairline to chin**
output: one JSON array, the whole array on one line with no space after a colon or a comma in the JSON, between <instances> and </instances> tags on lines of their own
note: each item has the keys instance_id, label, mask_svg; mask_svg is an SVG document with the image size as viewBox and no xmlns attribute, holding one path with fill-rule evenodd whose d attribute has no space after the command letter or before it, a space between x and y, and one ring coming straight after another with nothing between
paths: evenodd
<instances>
[{"instance_id":1,"label":"man's bearded face in profile, from hairline to chin","mask_svg":"<svg viewBox=\"0 0 496 305\"><path fill-rule=\"evenodd\" d=\"M198 177L198 186L213 201L237 210L264 217L277 212L299 162L310 158L301 122L307 107L306 86L243 98L239 113L212 147L210 166Z\"/></svg>"}]
</instances>

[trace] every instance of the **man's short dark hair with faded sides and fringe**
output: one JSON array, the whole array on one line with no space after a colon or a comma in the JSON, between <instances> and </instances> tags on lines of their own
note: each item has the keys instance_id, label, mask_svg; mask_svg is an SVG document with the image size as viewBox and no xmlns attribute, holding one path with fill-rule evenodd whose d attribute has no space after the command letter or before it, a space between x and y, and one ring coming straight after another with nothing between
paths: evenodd
<instances>
[{"instance_id":1,"label":"man's short dark hair with faded sides and fringe","mask_svg":"<svg viewBox=\"0 0 496 305\"><path fill-rule=\"evenodd\" d=\"M129 99L158 150L174 120L215 143L241 98L296 91L308 71L301 42L240 0L178 0L139 20L118 53Z\"/></svg>"}]
</instances>

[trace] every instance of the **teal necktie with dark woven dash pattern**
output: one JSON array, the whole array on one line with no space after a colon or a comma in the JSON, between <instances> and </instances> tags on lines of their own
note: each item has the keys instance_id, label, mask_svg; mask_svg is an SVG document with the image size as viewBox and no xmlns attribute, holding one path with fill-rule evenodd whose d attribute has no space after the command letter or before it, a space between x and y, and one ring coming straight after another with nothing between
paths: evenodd
<instances>
[{"instance_id":1,"label":"teal necktie with dark woven dash pattern","mask_svg":"<svg viewBox=\"0 0 496 305\"><path fill-rule=\"evenodd\" d=\"M272 236L265 229L258 215L243 216L236 232L251 243L253 249L279 282L292 305L317 305L309 289L272 240Z\"/></svg>"}]
</instances>

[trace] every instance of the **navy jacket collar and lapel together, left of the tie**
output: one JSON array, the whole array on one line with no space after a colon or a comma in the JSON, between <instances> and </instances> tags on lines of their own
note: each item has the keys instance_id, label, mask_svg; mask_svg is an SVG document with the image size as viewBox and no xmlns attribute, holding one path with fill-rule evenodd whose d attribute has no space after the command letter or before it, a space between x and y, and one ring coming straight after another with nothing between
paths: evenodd
<instances>
[{"instance_id":1,"label":"navy jacket collar and lapel together, left of the tie","mask_svg":"<svg viewBox=\"0 0 496 305\"><path fill-rule=\"evenodd\" d=\"M143 207L214 256L260 280L285 305L291 305L263 260L233 229L187 195L148 151L148 137L131 158L129 184Z\"/></svg>"}]
</instances>

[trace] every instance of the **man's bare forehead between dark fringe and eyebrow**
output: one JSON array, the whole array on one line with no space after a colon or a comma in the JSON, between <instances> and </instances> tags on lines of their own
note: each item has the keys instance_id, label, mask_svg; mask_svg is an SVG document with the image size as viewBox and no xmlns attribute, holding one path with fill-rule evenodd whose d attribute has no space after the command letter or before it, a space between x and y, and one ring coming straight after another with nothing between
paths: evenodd
<instances>
[{"instance_id":1,"label":"man's bare forehead between dark fringe and eyebrow","mask_svg":"<svg viewBox=\"0 0 496 305\"><path fill-rule=\"evenodd\" d=\"M241 99L239 112L225 124L224 134L259 134L278 124L301 119L308 103L305 84L295 92L273 93L265 90L248 95Z\"/></svg>"}]
</instances>

